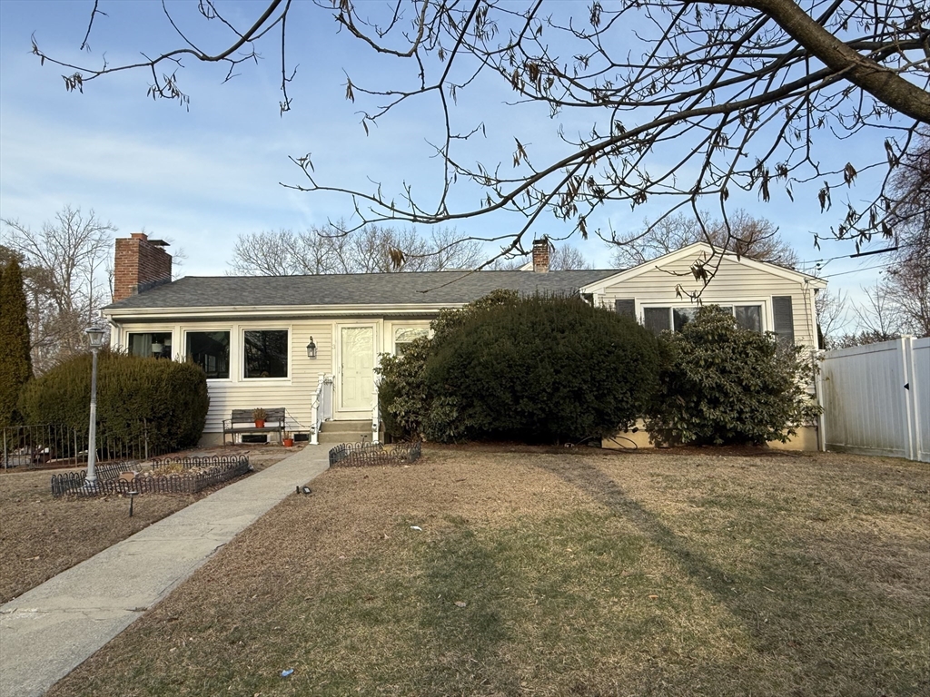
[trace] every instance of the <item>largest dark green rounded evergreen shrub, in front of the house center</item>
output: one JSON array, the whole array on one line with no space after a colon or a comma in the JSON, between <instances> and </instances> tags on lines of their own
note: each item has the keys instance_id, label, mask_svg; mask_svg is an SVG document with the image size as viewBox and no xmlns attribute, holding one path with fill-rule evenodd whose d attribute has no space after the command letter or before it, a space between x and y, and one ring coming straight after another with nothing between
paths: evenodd
<instances>
[{"instance_id":1,"label":"largest dark green rounded evergreen shrub, in front of the house center","mask_svg":"<svg viewBox=\"0 0 930 697\"><path fill-rule=\"evenodd\" d=\"M439 322L423 378L430 440L600 439L643 413L657 340L578 297L485 299Z\"/></svg>"}]
</instances>

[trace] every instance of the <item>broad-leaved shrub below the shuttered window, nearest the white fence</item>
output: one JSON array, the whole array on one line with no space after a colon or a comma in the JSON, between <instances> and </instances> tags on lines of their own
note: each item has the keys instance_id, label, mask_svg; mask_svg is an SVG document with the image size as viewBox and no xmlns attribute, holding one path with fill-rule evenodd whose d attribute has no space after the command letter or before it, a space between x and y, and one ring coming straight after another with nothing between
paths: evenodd
<instances>
[{"instance_id":1,"label":"broad-leaved shrub below the shuttered window, nearest the white fence","mask_svg":"<svg viewBox=\"0 0 930 697\"><path fill-rule=\"evenodd\" d=\"M819 408L807 391L800 347L737 325L716 306L698 309L680 332L663 334L661 388L646 420L666 443L786 441Z\"/></svg>"}]
</instances>

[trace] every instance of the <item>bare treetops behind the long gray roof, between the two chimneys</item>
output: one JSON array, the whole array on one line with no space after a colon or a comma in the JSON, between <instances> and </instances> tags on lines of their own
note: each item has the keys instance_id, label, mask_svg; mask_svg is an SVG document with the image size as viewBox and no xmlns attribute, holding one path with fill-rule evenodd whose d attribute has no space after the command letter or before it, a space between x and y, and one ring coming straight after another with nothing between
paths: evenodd
<instances>
[{"instance_id":1,"label":"bare treetops behind the long gray roof, between the two chimneys","mask_svg":"<svg viewBox=\"0 0 930 697\"><path fill-rule=\"evenodd\" d=\"M412 228L371 225L344 234L338 226L240 235L230 266L246 276L441 271L472 269L482 256L480 244L447 228L424 238Z\"/></svg>"}]
</instances>

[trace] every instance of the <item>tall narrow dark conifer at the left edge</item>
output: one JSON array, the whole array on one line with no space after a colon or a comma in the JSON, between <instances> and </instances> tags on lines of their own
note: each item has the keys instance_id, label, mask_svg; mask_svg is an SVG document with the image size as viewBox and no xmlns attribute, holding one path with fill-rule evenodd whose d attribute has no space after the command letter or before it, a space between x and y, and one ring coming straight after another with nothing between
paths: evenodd
<instances>
[{"instance_id":1,"label":"tall narrow dark conifer at the left edge","mask_svg":"<svg viewBox=\"0 0 930 697\"><path fill-rule=\"evenodd\" d=\"M0 276L0 427L17 421L20 389L32 377L26 294L14 258Z\"/></svg>"}]
</instances>

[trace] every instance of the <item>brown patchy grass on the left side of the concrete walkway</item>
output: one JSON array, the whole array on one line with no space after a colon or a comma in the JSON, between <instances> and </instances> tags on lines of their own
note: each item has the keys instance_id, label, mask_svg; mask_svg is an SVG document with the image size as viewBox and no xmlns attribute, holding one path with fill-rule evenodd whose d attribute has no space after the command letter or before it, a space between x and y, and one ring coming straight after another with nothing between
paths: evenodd
<instances>
[{"instance_id":1,"label":"brown patchy grass on the left side of the concrete walkway","mask_svg":"<svg viewBox=\"0 0 930 697\"><path fill-rule=\"evenodd\" d=\"M248 454L256 470L288 454L283 448L228 449ZM222 449L209 454L221 454ZM202 454L202 453L187 453ZM190 506L218 487L195 494L146 494L129 499L60 498L51 494L52 475L73 470L0 469L0 603L20 596L52 576L93 557L156 520Z\"/></svg>"}]
</instances>

